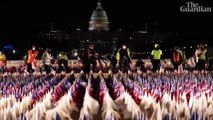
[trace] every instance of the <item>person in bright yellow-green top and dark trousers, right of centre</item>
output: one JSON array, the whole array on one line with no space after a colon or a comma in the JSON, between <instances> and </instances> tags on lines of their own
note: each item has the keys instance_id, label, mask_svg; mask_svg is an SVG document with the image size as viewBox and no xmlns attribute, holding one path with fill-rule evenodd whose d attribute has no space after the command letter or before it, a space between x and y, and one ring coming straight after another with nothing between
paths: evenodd
<instances>
[{"instance_id":1,"label":"person in bright yellow-green top and dark trousers, right of centre","mask_svg":"<svg viewBox=\"0 0 213 120\"><path fill-rule=\"evenodd\" d=\"M151 61L153 65L153 72L156 72L157 70L160 70L160 60L163 55L162 50L160 49L159 44L154 45L154 49L151 52Z\"/></svg>"}]
</instances>

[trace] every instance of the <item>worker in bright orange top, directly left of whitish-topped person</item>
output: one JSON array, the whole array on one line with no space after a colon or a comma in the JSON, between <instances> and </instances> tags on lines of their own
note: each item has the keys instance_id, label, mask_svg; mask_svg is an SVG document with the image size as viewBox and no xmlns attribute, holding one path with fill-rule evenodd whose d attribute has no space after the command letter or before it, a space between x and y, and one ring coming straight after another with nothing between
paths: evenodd
<instances>
[{"instance_id":1,"label":"worker in bright orange top, directly left of whitish-topped person","mask_svg":"<svg viewBox=\"0 0 213 120\"><path fill-rule=\"evenodd\" d=\"M38 53L39 51L36 50L36 46L33 45L32 49L28 50L28 54L27 54L27 71L29 73L33 73L37 67L38 61L37 61L37 57L38 57Z\"/></svg>"}]
</instances>

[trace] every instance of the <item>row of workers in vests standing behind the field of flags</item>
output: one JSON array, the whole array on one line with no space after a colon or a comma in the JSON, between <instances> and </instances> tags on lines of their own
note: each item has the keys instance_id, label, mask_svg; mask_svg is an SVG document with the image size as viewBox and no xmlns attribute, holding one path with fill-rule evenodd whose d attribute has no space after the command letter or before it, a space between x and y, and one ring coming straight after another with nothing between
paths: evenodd
<instances>
[{"instance_id":1,"label":"row of workers in vests standing behind the field of flags","mask_svg":"<svg viewBox=\"0 0 213 120\"><path fill-rule=\"evenodd\" d=\"M99 55L98 52L94 50L94 48L94 44L88 44L87 48L79 56L79 60L83 64L82 69L85 73L89 73L91 69L94 70L94 66L96 66L97 60L102 59L101 55ZM33 45L32 48L28 50L24 60L25 65L27 66L27 71L29 73L33 73L38 67L39 54L41 53L39 53L35 45ZM164 60L163 55L164 53L160 49L160 45L155 44L154 49L151 51L150 54L153 72L160 70L160 66L162 65L161 61ZM192 61L196 70L206 70L207 63L209 70L211 70L212 65L207 59L207 48L204 44L199 45L191 58L193 58ZM170 59L173 65L173 70L183 70L183 67L188 65L187 60L189 59L190 58L186 58L184 49L175 46ZM128 48L126 43L123 43L121 48L112 53L110 59L108 59L108 61L110 62L110 67L113 71L115 71L116 69L128 71L132 63L131 60L131 50ZM69 72L68 56L66 52L60 52L57 57L54 58L51 55L51 49L47 48L42 54L41 61L42 70L46 71L47 74L53 70L52 65L55 63L58 64L58 72ZM145 63L143 60L138 60L136 63L136 67L143 70L144 64ZM2 52L0 52L0 66L1 68L6 66L6 56Z\"/></svg>"}]
</instances>

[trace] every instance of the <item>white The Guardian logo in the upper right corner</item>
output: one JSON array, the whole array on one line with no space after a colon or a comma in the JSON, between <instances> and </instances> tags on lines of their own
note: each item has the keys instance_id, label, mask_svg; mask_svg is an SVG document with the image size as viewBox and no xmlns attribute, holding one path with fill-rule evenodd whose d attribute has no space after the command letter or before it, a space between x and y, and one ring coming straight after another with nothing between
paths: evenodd
<instances>
[{"instance_id":1,"label":"white The Guardian logo in the upper right corner","mask_svg":"<svg viewBox=\"0 0 213 120\"><path fill-rule=\"evenodd\" d=\"M180 7L181 12L212 12L211 7L204 7L194 2L186 2L186 5Z\"/></svg>"}]
</instances>

